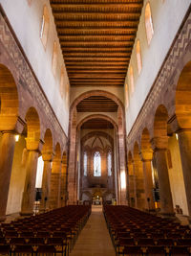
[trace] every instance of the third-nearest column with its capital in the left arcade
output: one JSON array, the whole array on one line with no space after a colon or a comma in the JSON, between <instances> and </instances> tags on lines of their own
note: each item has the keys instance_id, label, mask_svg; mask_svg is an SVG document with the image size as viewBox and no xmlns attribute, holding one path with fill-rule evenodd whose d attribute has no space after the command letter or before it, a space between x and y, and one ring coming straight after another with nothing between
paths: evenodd
<instances>
[{"instance_id":1,"label":"third-nearest column with its capital in the left arcade","mask_svg":"<svg viewBox=\"0 0 191 256\"><path fill-rule=\"evenodd\" d=\"M42 158L44 161L44 169L42 176L42 199L40 204L40 211L45 212L46 210L49 210L53 152L42 153Z\"/></svg>"}]
</instances>

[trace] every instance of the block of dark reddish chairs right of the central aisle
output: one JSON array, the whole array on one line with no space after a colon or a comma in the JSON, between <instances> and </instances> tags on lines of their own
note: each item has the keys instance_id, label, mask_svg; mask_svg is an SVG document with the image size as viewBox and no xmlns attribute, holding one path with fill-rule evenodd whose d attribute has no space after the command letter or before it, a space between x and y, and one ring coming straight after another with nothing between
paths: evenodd
<instances>
[{"instance_id":1,"label":"block of dark reddish chairs right of the central aisle","mask_svg":"<svg viewBox=\"0 0 191 256\"><path fill-rule=\"evenodd\" d=\"M105 205L117 255L191 255L191 229L129 206Z\"/></svg>"}]
</instances>

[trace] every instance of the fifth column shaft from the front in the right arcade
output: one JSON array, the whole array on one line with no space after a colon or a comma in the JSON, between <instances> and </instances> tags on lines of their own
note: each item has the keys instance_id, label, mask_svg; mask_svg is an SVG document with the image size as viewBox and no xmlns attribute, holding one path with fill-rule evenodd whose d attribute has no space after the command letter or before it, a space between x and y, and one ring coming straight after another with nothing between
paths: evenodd
<instances>
[{"instance_id":1,"label":"fifth column shaft from the front in the right arcade","mask_svg":"<svg viewBox=\"0 0 191 256\"><path fill-rule=\"evenodd\" d=\"M129 204L131 207L137 206L137 197L136 197L136 184L135 184L135 175L134 175L134 165L133 163L128 163L128 175L129 175Z\"/></svg>"}]
</instances>

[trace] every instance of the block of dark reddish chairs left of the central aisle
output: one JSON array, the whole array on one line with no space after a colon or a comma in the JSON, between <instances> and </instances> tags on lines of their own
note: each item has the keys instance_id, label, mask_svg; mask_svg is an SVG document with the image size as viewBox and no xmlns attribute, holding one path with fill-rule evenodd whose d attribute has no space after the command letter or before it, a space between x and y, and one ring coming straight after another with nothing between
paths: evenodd
<instances>
[{"instance_id":1,"label":"block of dark reddish chairs left of the central aisle","mask_svg":"<svg viewBox=\"0 0 191 256\"><path fill-rule=\"evenodd\" d=\"M69 255L91 206L69 205L0 224L0 255Z\"/></svg>"}]
</instances>

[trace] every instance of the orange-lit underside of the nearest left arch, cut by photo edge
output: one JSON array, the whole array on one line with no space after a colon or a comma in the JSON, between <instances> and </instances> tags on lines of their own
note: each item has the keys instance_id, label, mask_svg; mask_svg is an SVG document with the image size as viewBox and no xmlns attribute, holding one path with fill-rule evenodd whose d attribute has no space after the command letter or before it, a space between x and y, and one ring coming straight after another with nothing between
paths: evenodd
<instances>
[{"instance_id":1,"label":"orange-lit underside of the nearest left arch, cut by photo edge","mask_svg":"<svg viewBox=\"0 0 191 256\"><path fill-rule=\"evenodd\" d=\"M0 64L0 130L14 130L18 119L18 92L11 71Z\"/></svg>"}]
</instances>

